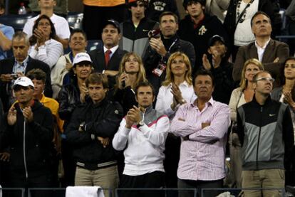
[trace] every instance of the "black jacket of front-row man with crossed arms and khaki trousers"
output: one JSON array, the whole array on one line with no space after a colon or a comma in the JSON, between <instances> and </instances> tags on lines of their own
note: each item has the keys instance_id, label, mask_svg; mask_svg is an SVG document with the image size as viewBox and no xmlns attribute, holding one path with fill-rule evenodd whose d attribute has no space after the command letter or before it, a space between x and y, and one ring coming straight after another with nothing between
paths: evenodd
<instances>
[{"instance_id":1,"label":"black jacket of front-row man with crossed arms and khaki trousers","mask_svg":"<svg viewBox=\"0 0 295 197\"><path fill-rule=\"evenodd\" d=\"M84 164L114 161L116 159L115 150L111 142L122 118L123 109L118 102L106 99L98 105L90 101L86 105L77 107L65 132L66 140L73 144L73 155L76 161ZM78 131L82 122L86 123L85 132ZM93 134L93 139L91 134ZM97 137L109 137L110 144L104 148Z\"/></svg>"}]
</instances>

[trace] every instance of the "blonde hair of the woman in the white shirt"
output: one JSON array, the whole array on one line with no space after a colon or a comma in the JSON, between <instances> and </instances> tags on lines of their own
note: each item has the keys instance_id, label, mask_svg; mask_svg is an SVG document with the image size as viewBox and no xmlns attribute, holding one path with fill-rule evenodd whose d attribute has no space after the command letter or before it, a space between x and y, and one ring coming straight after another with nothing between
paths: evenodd
<instances>
[{"instance_id":1,"label":"blonde hair of the woman in the white shirt","mask_svg":"<svg viewBox=\"0 0 295 197\"><path fill-rule=\"evenodd\" d=\"M187 71L185 72L185 81L188 85L192 85L192 66L190 65L190 59L185 55L185 53L182 52L175 52L170 55L170 58L168 59L167 68L166 68L166 78L165 81L162 82L162 85L168 86L171 82L174 82L174 75L171 71L171 65L172 61L177 58L182 57L183 61L185 62L185 65L187 66Z\"/></svg>"}]
</instances>

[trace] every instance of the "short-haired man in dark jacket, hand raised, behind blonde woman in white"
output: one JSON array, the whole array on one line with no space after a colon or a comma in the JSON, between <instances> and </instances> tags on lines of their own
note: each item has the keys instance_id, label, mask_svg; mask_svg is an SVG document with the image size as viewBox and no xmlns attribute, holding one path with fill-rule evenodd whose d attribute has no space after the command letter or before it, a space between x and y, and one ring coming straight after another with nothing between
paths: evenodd
<instances>
[{"instance_id":1,"label":"short-haired man in dark jacket, hand raised, behind blonde woman in white","mask_svg":"<svg viewBox=\"0 0 295 197\"><path fill-rule=\"evenodd\" d=\"M157 72L158 65L167 65L170 55L176 51L185 53L190 59L192 67L195 65L195 49L191 43L180 39L176 32L178 30L178 17L170 11L160 15L160 32L150 33L150 46L145 51L143 62L148 80L152 83L157 92L160 83L165 79L166 72ZM155 31L154 31L155 32Z\"/></svg>"}]
</instances>

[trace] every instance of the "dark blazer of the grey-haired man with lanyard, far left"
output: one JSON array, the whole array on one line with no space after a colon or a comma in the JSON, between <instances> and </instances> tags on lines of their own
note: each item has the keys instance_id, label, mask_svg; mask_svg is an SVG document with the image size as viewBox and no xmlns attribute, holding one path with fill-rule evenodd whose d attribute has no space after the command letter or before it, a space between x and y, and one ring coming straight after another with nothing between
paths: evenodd
<instances>
[{"instance_id":1,"label":"dark blazer of the grey-haired man with lanyard, far left","mask_svg":"<svg viewBox=\"0 0 295 197\"><path fill-rule=\"evenodd\" d=\"M14 68L14 58L7 58L0 61L0 75L1 74L11 74ZM52 89L51 89L51 77L50 73L51 70L49 66L46 63L43 63L40 60L35 60L31 57L29 57L28 65L26 66L25 75L30 70L33 70L34 68L40 68L46 73L46 82L45 82L45 90L44 95L46 97L52 97ZM4 112L7 112L9 110L9 97L8 92L6 91L6 88L9 86L7 82L2 82L0 80L0 97L3 102Z\"/></svg>"}]
</instances>

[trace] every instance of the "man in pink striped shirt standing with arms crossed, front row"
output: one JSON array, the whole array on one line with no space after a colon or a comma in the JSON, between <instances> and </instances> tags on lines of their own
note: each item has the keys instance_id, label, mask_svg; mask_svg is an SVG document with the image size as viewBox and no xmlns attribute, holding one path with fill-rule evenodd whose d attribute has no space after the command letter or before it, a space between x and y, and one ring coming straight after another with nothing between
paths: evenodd
<instances>
[{"instance_id":1,"label":"man in pink striped shirt standing with arms crossed, front row","mask_svg":"<svg viewBox=\"0 0 295 197\"><path fill-rule=\"evenodd\" d=\"M171 132L182 137L177 169L178 188L221 188L225 177L224 154L229 127L229 107L212 98L214 78L200 70L193 78L197 100L180 106L172 120ZM204 196L217 196L218 191L205 191ZM180 197L193 196L181 191Z\"/></svg>"}]
</instances>

